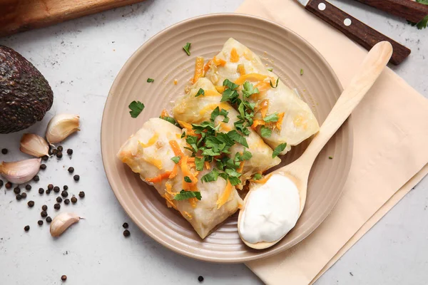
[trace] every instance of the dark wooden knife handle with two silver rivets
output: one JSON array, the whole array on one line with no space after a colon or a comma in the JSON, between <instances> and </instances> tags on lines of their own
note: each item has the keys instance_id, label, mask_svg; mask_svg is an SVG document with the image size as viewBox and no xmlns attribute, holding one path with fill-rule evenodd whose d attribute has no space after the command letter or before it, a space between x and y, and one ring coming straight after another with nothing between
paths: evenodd
<instances>
[{"instance_id":1,"label":"dark wooden knife handle with two silver rivets","mask_svg":"<svg viewBox=\"0 0 428 285\"><path fill-rule=\"evenodd\" d=\"M399 63L402 63L402 61L404 61L411 52L409 48L406 48L400 43L397 43L397 41L379 33L374 30L374 28L370 28L370 26L358 21L325 0L310 0L305 8L312 14L315 14L315 16L320 17L328 24L337 28L342 33L345 33L345 35L352 39L352 41L360 43L360 45L366 48L367 51L370 51L370 49L380 41L389 41L394 48L394 52L392 53L392 57L389 62L396 66L399 65Z\"/></svg>"}]
</instances>

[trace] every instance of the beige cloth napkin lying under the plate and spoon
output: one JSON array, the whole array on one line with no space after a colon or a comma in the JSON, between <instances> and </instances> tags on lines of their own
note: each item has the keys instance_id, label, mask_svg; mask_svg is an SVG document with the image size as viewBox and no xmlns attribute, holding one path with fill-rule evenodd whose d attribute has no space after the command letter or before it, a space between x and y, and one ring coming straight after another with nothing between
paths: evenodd
<instances>
[{"instance_id":1,"label":"beige cloth napkin lying under the plate and spoon","mask_svg":"<svg viewBox=\"0 0 428 285\"><path fill-rule=\"evenodd\" d=\"M246 0L238 12L298 33L327 59L342 86L367 54L292 0ZM246 264L265 283L314 282L428 173L428 100L389 68L352 113L352 124L354 157L340 201L303 242Z\"/></svg>"}]
</instances>

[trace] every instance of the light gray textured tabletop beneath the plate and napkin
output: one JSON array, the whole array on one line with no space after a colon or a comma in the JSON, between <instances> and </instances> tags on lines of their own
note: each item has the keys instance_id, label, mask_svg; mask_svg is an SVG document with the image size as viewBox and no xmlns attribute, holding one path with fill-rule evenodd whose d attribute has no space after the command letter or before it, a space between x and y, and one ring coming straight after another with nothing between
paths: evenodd
<instances>
[{"instance_id":1,"label":"light gray textured tabletop beneath the plate and napkin","mask_svg":"<svg viewBox=\"0 0 428 285\"><path fill-rule=\"evenodd\" d=\"M24 201L16 201L11 191L0 194L0 284L61 284L62 274L67 274L67 284L198 284L198 275L205 277L203 284L261 284L243 264L208 264L181 257L132 224L104 175L98 135L111 83L138 46L178 21L234 11L240 3L241 0L147 0L0 38L0 44L16 49L34 63L54 90L53 108L30 132L43 135L55 113L78 113L82 118L81 132L63 143L65 148L75 150L71 160L66 155L59 162L51 159L48 169L40 174L41 180L31 183L33 189ZM428 60L424 55L428 30L418 31L401 19L353 1L332 3L411 48L411 57L394 70L428 97ZM9 148L9 155L0 155L1 160L24 157L19 152L21 133L0 135L0 148ZM68 166L75 167L81 175L79 182L68 175ZM48 183L68 185L68 192L73 194L86 192L76 205L62 204L61 210L71 209L86 219L60 239L50 237L46 224L37 225L42 204L48 205L51 216L55 215L57 195L41 196L37 192ZM428 179L424 179L317 285L424 284L428 279L427 189ZM30 199L36 202L32 209L26 206ZM131 224L128 239L122 235L123 222ZM28 233L23 229L26 224L31 226Z\"/></svg>"}]
</instances>

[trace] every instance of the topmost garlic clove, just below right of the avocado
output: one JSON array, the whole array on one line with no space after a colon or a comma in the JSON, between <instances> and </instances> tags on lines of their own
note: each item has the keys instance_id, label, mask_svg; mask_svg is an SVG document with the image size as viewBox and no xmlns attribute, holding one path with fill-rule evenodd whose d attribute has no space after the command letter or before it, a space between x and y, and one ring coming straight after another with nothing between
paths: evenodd
<instances>
[{"instance_id":1,"label":"topmost garlic clove, just below right of the avocado","mask_svg":"<svg viewBox=\"0 0 428 285\"><path fill-rule=\"evenodd\" d=\"M46 130L46 140L50 144L62 142L68 135L79 130L78 115L58 114L51 118Z\"/></svg>"}]
</instances>

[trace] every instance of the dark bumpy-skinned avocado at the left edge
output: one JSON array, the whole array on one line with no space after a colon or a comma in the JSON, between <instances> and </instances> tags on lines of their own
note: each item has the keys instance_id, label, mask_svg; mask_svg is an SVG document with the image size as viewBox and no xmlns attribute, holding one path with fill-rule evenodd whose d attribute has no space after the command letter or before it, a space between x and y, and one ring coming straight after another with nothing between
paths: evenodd
<instances>
[{"instance_id":1,"label":"dark bumpy-skinned avocado at the left edge","mask_svg":"<svg viewBox=\"0 0 428 285\"><path fill-rule=\"evenodd\" d=\"M0 46L0 133L34 125L53 101L51 86L37 68L13 49Z\"/></svg>"}]
</instances>

